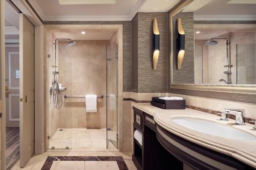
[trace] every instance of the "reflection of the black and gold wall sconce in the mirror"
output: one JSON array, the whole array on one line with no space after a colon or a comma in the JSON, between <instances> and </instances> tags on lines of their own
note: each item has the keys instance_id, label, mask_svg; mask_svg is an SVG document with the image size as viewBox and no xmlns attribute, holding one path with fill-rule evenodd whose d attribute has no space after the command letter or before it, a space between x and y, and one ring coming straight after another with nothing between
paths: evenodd
<instances>
[{"instance_id":1,"label":"reflection of the black and gold wall sconce in the mirror","mask_svg":"<svg viewBox=\"0 0 256 170\"><path fill-rule=\"evenodd\" d=\"M181 18L178 18L178 38L177 38L177 50L178 50L178 69L181 69L185 54L185 32L182 27Z\"/></svg>"}]
</instances>

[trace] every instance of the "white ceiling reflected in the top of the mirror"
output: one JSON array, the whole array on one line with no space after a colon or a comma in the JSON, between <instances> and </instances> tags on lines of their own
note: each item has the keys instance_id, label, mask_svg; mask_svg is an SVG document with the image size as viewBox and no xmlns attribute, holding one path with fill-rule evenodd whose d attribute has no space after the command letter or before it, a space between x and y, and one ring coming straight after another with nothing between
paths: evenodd
<instances>
[{"instance_id":1,"label":"white ceiling reflected in the top of the mirror","mask_svg":"<svg viewBox=\"0 0 256 170\"><path fill-rule=\"evenodd\" d=\"M238 3L239 2L239 3ZM256 20L256 1L195 0L182 12L194 12L195 20Z\"/></svg>"}]
</instances>

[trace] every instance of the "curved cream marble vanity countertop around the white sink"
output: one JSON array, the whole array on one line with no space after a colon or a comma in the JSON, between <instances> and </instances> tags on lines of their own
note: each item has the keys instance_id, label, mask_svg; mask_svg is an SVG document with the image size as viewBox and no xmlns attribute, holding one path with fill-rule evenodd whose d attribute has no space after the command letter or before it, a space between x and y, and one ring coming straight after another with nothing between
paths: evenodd
<instances>
[{"instance_id":1,"label":"curved cream marble vanity countertop around the white sink","mask_svg":"<svg viewBox=\"0 0 256 170\"><path fill-rule=\"evenodd\" d=\"M155 122L165 130L188 141L202 145L205 148L236 158L241 162L256 168L256 140L237 140L205 134L180 126L174 123L172 119L177 116L206 119L211 122L232 126L256 136L256 130L253 130L252 128L253 125L234 125L234 120L232 119L229 119L229 121L221 121L219 120L220 116L193 109L165 110L152 106L151 104L137 104L134 102L132 103L132 106L154 116Z\"/></svg>"}]
</instances>

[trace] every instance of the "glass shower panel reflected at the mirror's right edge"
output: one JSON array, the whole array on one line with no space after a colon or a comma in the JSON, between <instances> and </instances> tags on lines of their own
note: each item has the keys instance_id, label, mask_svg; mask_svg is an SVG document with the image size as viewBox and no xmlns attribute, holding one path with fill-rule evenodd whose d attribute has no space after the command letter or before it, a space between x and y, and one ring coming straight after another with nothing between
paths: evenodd
<instances>
[{"instance_id":1,"label":"glass shower panel reflected at the mirror's right edge","mask_svg":"<svg viewBox=\"0 0 256 170\"><path fill-rule=\"evenodd\" d=\"M237 44L237 84L256 84L256 44Z\"/></svg>"}]
</instances>

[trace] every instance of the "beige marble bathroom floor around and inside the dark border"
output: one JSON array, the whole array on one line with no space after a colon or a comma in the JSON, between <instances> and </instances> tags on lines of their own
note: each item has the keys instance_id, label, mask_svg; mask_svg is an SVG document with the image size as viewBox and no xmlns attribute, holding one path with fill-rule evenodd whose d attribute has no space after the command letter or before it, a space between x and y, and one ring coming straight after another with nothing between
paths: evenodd
<instances>
[{"instance_id":1,"label":"beige marble bathroom floor around and inside the dark border","mask_svg":"<svg viewBox=\"0 0 256 170\"><path fill-rule=\"evenodd\" d=\"M61 161L58 160L58 157L122 157L124 160L127 168L120 168L117 161ZM121 170L121 169L129 169L129 170L136 170L132 158L131 153L121 153L121 152L74 152L72 150L62 150L61 151L48 151L41 155L34 155L27 165L24 168L19 167L19 161L14 165L12 170L39 170L43 169L46 160L48 157L55 158L56 160L52 162L52 165L49 169L81 169L81 170L97 170L97 169L111 169L111 170ZM118 167L119 166L119 167ZM47 168L46 168L47 169Z\"/></svg>"}]
</instances>

